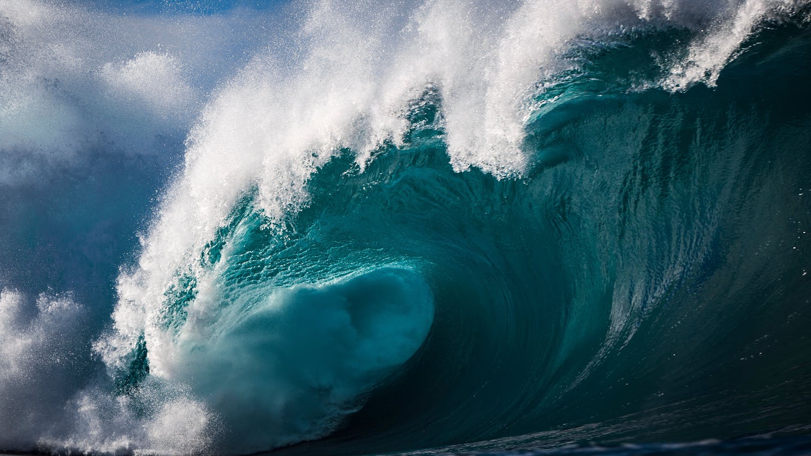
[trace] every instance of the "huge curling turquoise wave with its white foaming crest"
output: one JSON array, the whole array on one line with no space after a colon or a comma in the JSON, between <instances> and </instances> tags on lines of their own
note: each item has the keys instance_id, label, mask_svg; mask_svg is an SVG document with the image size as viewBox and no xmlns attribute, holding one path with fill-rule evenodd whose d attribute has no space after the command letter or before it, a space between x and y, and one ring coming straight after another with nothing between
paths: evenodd
<instances>
[{"instance_id":1,"label":"huge curling turquoise wave with its white foaming crest","mask_svg":"<svg viewBox=\"0 0 811 456\"><path fill-rule=\"evenodd\" d=\"M503 43L548 19L531 2L504 6L492 62L475 27L437 38L460 62L410 61L423 29L380 38L442 5L315 7L300 66L255 58L172 146L181 165L121 184L143 194L113 213L147 222L110 229L131 231L96 288L51 279L97 300L75 311L84 380L48 399L73 424L10 426L0 449L807 453L811 30L805 4L757 3L738 37L723 20L750 3L556 16L582 29L529 63ZM6 325L49 333L43 315L82 307L44 296Z\"/></svg>"}]
</instances>

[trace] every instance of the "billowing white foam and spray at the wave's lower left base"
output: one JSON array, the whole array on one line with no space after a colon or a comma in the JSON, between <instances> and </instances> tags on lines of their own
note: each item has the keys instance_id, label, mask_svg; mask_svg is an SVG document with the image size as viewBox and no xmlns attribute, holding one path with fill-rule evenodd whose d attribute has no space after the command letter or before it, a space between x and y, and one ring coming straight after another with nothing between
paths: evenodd
<instances>
[{"instance_id":1,"label":"billowing white foam and spray at the wave's lower left base","mask_svg":"<svg viewBox=\"0 0 811 456\"><path fill-rule=\"evenodd\" d=\"M216 419L181 385L152 383L135 398L116 398L88 383L90 346L79 332L89 318L70 296L30 300L0 291L0 450L189 454L207 448ZM139 416L134 400L152 413Z\"/></svg>"}]
</instances>

